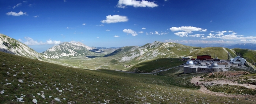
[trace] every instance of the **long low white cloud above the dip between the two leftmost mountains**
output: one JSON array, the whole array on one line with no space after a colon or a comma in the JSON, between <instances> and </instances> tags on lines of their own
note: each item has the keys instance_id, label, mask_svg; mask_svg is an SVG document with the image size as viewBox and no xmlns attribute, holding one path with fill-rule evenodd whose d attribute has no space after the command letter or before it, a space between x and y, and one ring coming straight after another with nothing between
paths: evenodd
<instances>
[{"instance_id":1,"label":"long low white cloud above the dip between the two leftmost mountains","mask_svg":"<svg viewBox=\"0 0 256 104\"><path fill-rule=\"evenodd\" d=\"M52 41L51 39L46 40L46 42L38 42L38 41L34 41L34 39L30 38L30 37L25 37L25 39L27 40L26 42L24 42L25 45L58 45L61 42L60 41ZM21 39L19 39L19 41L22 41Z\"/></svg>"}]
</instances>

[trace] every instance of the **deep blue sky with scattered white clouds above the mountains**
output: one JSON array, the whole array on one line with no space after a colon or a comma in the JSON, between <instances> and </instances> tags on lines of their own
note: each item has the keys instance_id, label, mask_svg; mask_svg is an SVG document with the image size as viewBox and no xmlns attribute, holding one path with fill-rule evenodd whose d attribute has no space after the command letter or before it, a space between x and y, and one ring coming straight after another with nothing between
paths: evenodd
<instances>
[{"instance_id":1,"label":"deep blue sky with scattered white clouds above the mountains","mask_svg":"<svg viewBox=\"0 0 256 104\"><path fill-rule=\"evenodd\" d=\"M94 47L256 43L256 0L0 0L0 33L42 52Z\"/></svg>"}]
</instances>

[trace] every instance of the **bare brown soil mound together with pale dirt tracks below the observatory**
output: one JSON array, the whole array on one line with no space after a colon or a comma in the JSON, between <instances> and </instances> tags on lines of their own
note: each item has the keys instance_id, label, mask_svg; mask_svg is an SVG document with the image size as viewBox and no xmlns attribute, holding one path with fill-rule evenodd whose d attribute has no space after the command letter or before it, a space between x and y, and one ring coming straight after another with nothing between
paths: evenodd
<instances>
[{"instance_id":1,"label":"bare brown soil mound together with pale dirt tracks below the observatory","mask_svg":"<svg viewBox=\"0 0 256 104\"><path fill-rule=\"evenodd\" d=\"M245 72L245 71L228 71L228 72L216 72L214 73L215 75L225 75L226 78L221 78L218 80L207 80L207 81L199 81L199 80L205 80L205 78L200 78L200 76L194 77L191 79L191 83L194 83L196 85L196 83L198 83L197 86L200 86L200 92L204 92L204 93L209 93L211 95L218 95L218 96L227 96L227 97L247 97L250 99L256 99L256 95L234 95L234 94L226 94L223 92L212 92L210 90L208 90L204 85L208 84L230 84L230 85L237 85L237 86L244 86L246 88L252 88L252 89L256 89L255 85L249 85L249 84L240 84L240 83L236 83L233 82L234 79L236 79L237 77L241 76L241 75L245 75L245 74L249 74L249 72ZM209 76L211 76L212 74L210 74ZM207 78L206 78L207 79Z\"/></svg>"}]
</instances>

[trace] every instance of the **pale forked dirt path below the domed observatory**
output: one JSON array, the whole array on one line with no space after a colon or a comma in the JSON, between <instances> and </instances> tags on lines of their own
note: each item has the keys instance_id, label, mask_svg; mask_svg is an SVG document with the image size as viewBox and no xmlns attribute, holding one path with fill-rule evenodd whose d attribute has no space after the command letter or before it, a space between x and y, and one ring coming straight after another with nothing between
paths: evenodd
<instances>
[{"instance_id":1,"label":"pale forked dirt path below the domed observatory","mask_svg":"<svg viewBox=\"0 0 256 104\"><path fill-rule=\"evenodd\" d=\"M200 76L194 77L191 79L191 83L196 84L196 82L198 82L198 86L200 86L200 92L204 92L204 93L209 93L211 95L218 95L218 96L227 96L227 97L248 97L248 98L255 98L256 95L233 95L233 94L226 94L223 92L212 92L210 90L208 90L206 87L204 87L203 84L211 84L212 82L214 84L230 84L230 85L238 85L238 86L244 86L247 88L252 88L255 89L256 86L255 85L247 85L247 84L239 84L239 83L233 83L231 81L226 81L226 80L212 80L210 82L200 82L199 80L203 80L203 78L200 78ZM202 84L203 83L203 84Z\"/></svg>"}]
</instances>

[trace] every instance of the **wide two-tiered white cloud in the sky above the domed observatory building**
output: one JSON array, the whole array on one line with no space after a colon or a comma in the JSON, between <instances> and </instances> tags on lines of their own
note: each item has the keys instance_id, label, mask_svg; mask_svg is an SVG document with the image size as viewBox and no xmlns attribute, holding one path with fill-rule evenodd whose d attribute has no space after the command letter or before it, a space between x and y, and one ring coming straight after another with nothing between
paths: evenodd
<instances>
[{"instance_id":1,"label":"wide two-tiered white cloud in the sky above the domed observatory building","mask_svg":"<svg viewBox=\"0 0 256 104\"><path fill-rule=\"evenodd\" d=\"M181 26L181 27L172 27L170 28L171 31L175 32L175 31L184 31L184 32L177 32L174 33L177 36L180 37L188 37L188 34L191 34L192 31L202 31L203 29L201 28L196 28L196 27L192 27L192 26ZM206 29L204 29L206 30Z\"/></svg>"}]
</instances>

